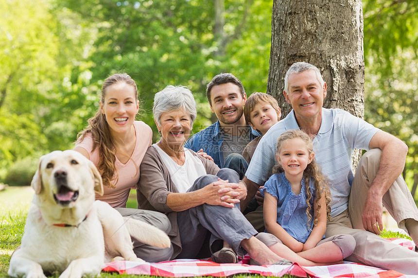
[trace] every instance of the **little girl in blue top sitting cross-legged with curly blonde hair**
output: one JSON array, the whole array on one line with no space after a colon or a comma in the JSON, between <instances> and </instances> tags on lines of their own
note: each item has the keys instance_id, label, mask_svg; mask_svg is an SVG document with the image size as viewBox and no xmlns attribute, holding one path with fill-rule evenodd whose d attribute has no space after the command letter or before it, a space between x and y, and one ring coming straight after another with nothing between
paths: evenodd
<instances>
[{"instance_id":1,"label":"little girl in blue top sitting cross-legged with curly blonde hair","mask_svg":"<svg viewBox=\"0 0 418 278\"><path fill-rule=\"evenodd\" d=\"M264 184L264 224L261 239L273 251L284 244L313 262L338 263L355 247L351 235L325 238L331 220L327 178L314 159L313 143L300 130L286 131L278 139L273 175Z\"/></svg>"}]
</instances>

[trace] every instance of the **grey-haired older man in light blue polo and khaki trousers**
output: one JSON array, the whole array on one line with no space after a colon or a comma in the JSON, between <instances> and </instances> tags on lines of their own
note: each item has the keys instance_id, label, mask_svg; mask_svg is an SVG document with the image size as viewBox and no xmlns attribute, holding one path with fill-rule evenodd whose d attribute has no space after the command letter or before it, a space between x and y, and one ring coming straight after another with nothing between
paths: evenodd
<instances>
[{"instance_id":1,"label":"grey-haired older man in light blue polo and khaki trousers","mask_svg":"<svg viewBox=\"0 0 418 278\"><path fill-rule=\"evenodd\" d=\"M378 236L383 203L398 226L418 243L418 210L400 176L408 147L346 111L322 108L327 84L311 64L295 63L289 68L283 93L293 110L261 139L243 180L248 196L242 206L268 179L279 135L300 129L313 139L316 161L330 180L332 221L326 236L354 236L357 245L349 261L417 274L418 253ZM351 154L356 147L370 150L354 176Z\"/></svg>"}]
</instances>

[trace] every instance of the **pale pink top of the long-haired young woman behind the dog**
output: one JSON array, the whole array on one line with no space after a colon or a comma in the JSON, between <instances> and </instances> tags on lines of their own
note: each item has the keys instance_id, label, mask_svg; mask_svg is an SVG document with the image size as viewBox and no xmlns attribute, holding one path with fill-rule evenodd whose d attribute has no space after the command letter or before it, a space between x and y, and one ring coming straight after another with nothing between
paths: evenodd
<instances>
[{"instance_id":1,"label":"pale pink top of the long-haired young woman behind the dog","mask_svg":"<svg viewBox=\"0 0 418 278\"><path fill-rule=\"evenodd\" d=\"M139 180L139 165L148 147L152 144L152 130L142 121L134 122L137 143L131 159L122 164L116 158L115 166L118 170L119 180L115 184L116 188L104 186L104 195L96 194L96 199L109 203L114 208L125 208L129 192L132 186L135 186ZM93 139L91 134L87 134L83 141L76 143L75 147L82 147L90 154L90 160L97 166L99 163L99 150L96 148L93 152Z\"/></svg>"}]
</instances>

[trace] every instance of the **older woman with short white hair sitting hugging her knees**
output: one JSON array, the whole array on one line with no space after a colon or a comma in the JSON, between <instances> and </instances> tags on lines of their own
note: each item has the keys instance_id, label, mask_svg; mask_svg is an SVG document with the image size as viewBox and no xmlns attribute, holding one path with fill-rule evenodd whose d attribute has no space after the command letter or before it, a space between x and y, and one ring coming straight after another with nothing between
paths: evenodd
<instances>
[{"instance_id":1,"label":"older woman with short white hair sitting hugging her knees","mask_svg":"<svg viewBox=\"0 0 418 278\"><path fill-rule=\"evenodd\" d=\"M138 208L167 214L172 259L212 253L216 262L236 262L231 257L247 252L254 263L290 264L289 259L313 265L285 245L283 259L256 238L258 232L240 211L246 188L238 174L183 147L196 118L196 102L187 87L169 85L158 92L153 114L161 140L148 147L140 165Z\"/></svg>"}]
</instances>

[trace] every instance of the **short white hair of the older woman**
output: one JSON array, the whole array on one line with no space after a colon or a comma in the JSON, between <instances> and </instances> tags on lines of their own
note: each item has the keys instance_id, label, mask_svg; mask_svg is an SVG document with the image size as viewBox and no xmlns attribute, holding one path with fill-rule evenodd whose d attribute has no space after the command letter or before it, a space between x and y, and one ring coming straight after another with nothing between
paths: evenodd
<instances>
[{"instance_id":1,"label":"short white hair of the older woman","mask_svg":"<svg viewBox=\"0 0 418 278\"><path fill-rule=\"evenodd\" d=\"M196 101L189 88L186 86L168 85L154 96L154 120L160 125L161 114L183 109L186 114L190 115L192 119L191 126L193 126L197 115L196 107Z\"/></svg>"}]
</instances>

